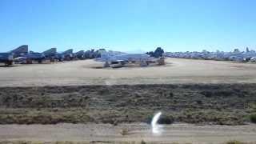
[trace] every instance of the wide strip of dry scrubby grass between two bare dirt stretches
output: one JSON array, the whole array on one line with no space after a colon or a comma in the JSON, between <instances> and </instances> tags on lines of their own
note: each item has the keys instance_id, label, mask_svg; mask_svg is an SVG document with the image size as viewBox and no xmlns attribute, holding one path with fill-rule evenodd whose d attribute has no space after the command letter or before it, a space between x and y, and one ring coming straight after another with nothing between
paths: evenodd
<instances>
[{"instance_id":1,"label":"wide strip of dry scrubby grass between two bare dirt stretches","mask_svg":"<svg viewBox=\"0 0 256 144\"><path fill-rule=\"evenodd\" d=\"M1 124L149 122L240 125L255 113L255 84L5 87Z\"/></svg>"}]
</instances>

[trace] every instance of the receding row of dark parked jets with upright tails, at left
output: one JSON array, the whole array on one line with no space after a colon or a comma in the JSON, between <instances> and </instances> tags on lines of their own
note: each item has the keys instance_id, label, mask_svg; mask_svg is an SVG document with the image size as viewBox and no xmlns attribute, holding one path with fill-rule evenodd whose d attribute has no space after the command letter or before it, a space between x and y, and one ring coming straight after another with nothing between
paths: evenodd
<instances>
[{"instance_id":1,"label":"receding row of dark parked jets with upright tails, at left","mask_svg":"<svg viewBox=\"0 0 256 144\"><path fill-rule=\"evenodd\" d=\"M94 50L80 50L77 53L73 53L73 50L66 50L64 52L57 52L57 48L51 48L42 53L29 51L28 45L19 46L17 49L9 52L0 53L0 63L4 63L6 66L10 66L14 63L31 64L33 62L42 63L43 61L50 62L62 62L70 61L73 59L86 59L86 58L98 58L98 51Z\"/></svg>"}]
</instances>

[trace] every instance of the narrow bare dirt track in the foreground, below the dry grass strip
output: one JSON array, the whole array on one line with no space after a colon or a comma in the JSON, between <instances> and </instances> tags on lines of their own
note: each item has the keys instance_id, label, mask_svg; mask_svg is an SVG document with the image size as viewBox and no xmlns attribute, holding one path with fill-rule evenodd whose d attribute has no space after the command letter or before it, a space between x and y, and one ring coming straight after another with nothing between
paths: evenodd
<instances>
[{"instance_id":1,"label":"narrow bare dirt track in the foreground, below the dry grass strip","mask_svg":"<svg viewBox=\"0 0 256 144\"><path fill-rule=\"evenodd\" d=\"M126 130L126 133L122 133ZM1 141L36 142L155 142L155 143L222 143L231 140L256 142L256 125L195 126L185 123L162 125L161 133L153 134L144 123L0 125Z\"/></svg>"}]
</instances>

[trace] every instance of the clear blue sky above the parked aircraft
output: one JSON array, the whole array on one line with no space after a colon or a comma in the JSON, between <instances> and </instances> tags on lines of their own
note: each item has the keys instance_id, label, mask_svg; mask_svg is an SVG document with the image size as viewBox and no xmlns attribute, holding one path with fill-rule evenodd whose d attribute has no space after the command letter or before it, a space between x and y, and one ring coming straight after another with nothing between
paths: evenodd
<instances>
[{"instance_id":1,"label":"clear blue sky above the parked aircraft","mask_svg":"<svg viewBox=\"0 0 256 144\"><path fill-rule=\"evenodd\" d=\"M255 0L0 0L0 51L256 50Z\"/></svg>"}]
</instances>

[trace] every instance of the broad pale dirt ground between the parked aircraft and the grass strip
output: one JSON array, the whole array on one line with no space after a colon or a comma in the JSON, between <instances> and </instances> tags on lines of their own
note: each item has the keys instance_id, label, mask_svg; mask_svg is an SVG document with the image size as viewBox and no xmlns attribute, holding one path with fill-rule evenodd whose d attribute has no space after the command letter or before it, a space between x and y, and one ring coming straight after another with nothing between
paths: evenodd
<instances>
[{"instance_id":1,"label":"broad pale dirt ground between the parked aircraft and the grass strip","mask_svg":"<svg viewBox=\"0 0 256 144\"><path fill-rule=\"evenodd\" d=\"M167 58L166 66L96 69L94 60L0 67L0 86L256 82L256 64Z\"/></svg>"}]
</instances>

